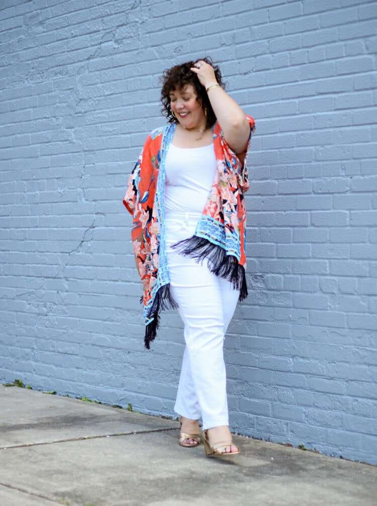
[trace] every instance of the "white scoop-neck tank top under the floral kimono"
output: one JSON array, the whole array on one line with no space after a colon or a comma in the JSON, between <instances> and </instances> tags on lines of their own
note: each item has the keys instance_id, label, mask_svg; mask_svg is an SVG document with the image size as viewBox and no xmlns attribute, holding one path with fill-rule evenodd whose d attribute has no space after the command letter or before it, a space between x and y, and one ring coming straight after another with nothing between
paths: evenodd
<instances>
[{"instance_id":1,"label":"white scoop-neck tank top under the floral kimono","mask_svg":"<svg viewBox=\"0 0 377 506\"><path fill-rule=\"evenodd\" d=\"M165 160L166 213L202 213L216 166L213 144L185 149L170 143Z\"/></svg>"}]
</instances>

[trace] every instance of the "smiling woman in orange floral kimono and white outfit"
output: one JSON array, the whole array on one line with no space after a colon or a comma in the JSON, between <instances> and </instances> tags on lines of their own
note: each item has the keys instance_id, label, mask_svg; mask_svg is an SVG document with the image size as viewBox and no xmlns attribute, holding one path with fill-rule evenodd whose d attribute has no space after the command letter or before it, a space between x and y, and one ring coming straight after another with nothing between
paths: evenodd
<instances>
[{"instance_id":1,"label":"smiling woman in orange floral kimono and white outfit","mask_svg":"<svg viewBox=\"0 0 377 506\"><path fill-rule=\"evenodd\" d=\"M186 343L174 409L179 444L207 455L240 453L228 427L223 340L247 296L245 158L253 118L224 91L209 58L164 72L165 128L150 134L123 200L144 287L145 344L159 311L177 307Z\"/></svg>"}]
</instances>

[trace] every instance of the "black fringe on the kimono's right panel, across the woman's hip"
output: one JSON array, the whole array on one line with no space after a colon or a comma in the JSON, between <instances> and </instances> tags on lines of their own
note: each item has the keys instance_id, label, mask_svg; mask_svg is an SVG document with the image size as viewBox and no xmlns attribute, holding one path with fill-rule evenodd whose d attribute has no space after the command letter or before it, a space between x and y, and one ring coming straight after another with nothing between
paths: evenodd
<instances>
[{"instance_id":1,"label":"black fringe on the kimono's right panel, across the woman's hip","mask_svg":"<svg viewBox=\"0 0 377 506\"><path fill-rule=\"evenodd\" d=\"M239 301L247 298L245 268L238 263L237 258L226 255L224 248L196 235L176 242L171 247L180 255L190 257L198 263L207 259L208 268L215 276L230 281L235 290L240 290Z\"/></svg>"}]
</instances>

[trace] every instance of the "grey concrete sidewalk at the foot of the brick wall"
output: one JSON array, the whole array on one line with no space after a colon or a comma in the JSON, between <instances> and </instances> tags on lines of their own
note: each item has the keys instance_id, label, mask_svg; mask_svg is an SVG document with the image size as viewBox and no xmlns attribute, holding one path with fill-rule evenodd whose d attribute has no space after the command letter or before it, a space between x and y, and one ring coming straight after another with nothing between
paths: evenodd
<instances>
[{"instance_id":1,"label":"grey concrete sidewalk at the foot of the brick wall","mask_svg":"<svg viewBox=\"0 0 377 506\"><path fill-rule=\"evenodd\" d=\"M0 386L1 506L375 506L377 467L234 436L224 461L176 421Z\"/></svg>"}]
</instances>

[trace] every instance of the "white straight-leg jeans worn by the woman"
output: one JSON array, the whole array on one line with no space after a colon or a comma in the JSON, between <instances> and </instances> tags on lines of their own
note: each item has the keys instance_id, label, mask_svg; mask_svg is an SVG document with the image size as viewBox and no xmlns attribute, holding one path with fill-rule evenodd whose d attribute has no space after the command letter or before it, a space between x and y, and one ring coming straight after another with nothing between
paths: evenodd
<instances>
[{"instance_id":1,"label":"white straight-leg jeans worn by the woman","mask_svg":"<svg viewBox=\"0 0 377 506\"><path fill-rule=\"evenodd\" d=\"M223 341L239 298L231 283L207 267L183 257L170 246L196 229L200 215L166 218L166 252L170 292L184 323L186 347L174 409L185 418L199 419L203 429L228 424Z\"/></svg>"}]
</instances>

